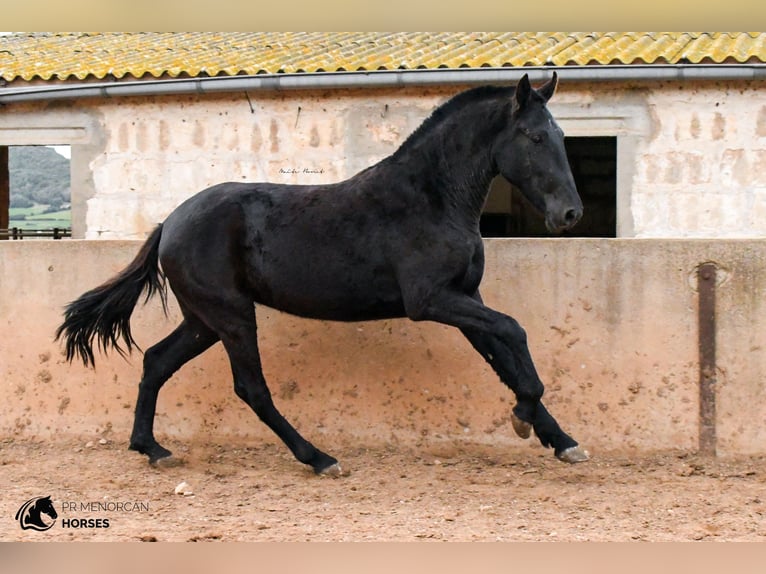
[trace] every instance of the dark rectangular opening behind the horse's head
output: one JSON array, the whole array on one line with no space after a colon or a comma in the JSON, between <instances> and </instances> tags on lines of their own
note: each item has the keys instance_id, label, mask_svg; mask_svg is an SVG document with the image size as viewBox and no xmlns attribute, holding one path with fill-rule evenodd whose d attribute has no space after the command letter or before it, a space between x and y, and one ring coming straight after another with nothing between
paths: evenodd
<instances>
[{"instance_id":1,"label":"dark rectangular opening behind the horse's head","mask_svg":"<svg viewBox=\"0 0 766 574\"><path fill-rule=\"evenodd\" d=\"M565 237L617 236L617 138L568 137L564 140L583 217ZM490 184L481 216L483 237L549 237L542 216L502 176Z\"/></svg>"}]
</instances>

